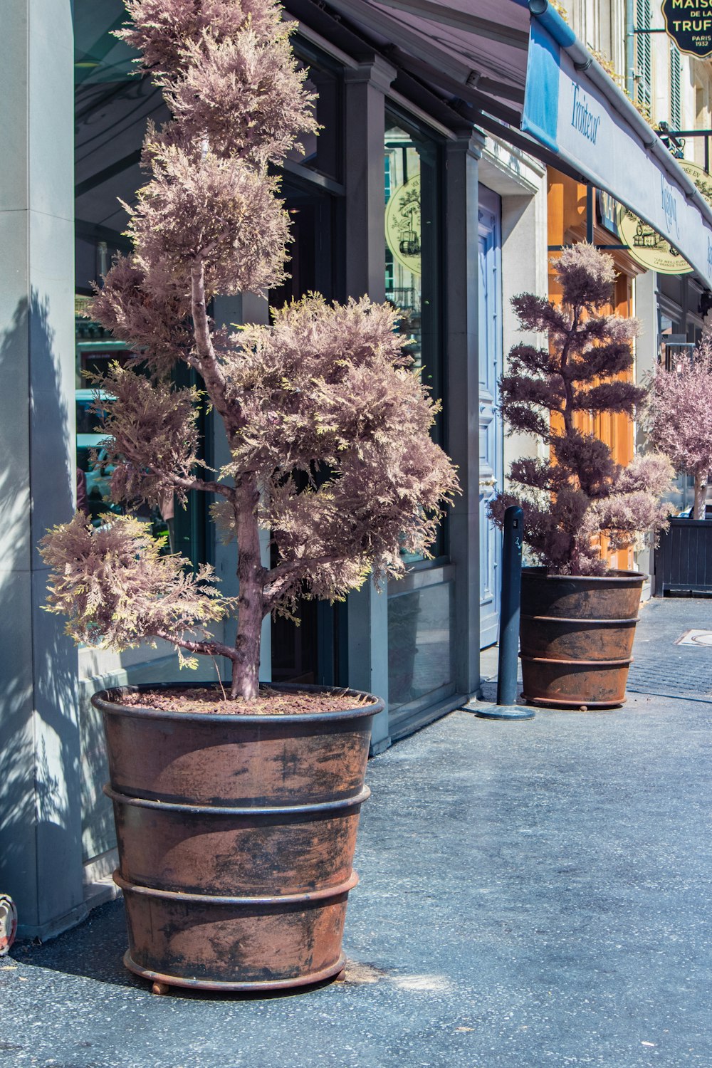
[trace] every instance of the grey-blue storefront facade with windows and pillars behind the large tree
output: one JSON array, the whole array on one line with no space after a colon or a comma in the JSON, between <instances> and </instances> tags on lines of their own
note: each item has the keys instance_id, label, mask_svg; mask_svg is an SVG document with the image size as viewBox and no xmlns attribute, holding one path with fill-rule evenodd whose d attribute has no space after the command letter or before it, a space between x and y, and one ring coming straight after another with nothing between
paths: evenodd
<instances>
[{"instance_id":1,"label":"grey-blue storefront facade with windows and pillars behind the large tree","mask_svg":"<svg viewBox=\"0 0 712 1068\"><path fill-rule=\"evenodd\" d=\"M404 329L424 380L442 397L434 433L458 465L462 492L433 559L410 560L407 578L386 591L367 584L344 604L305 602L299 628L268 622L264 630L265 680L348 685L386 698L374 752L479 688L479 650L496 640L501 584L500 538L486 506L503 487L509 460L522 445L531 447L504 438L495 403L506 352L521 340L509 301L524 290L545 296L551 246L580 239L582 227L587 233L576 215L577 187L565 194L561 184L559 197L556 185L557 168L567 183L580 183L579 164L552 138L555 116L542 113L531 92L527 107L526 94L526 85L536 84L528 77L533 57L548 56L544 73L554 78L568 70L571 56L587 53L540 0L528 6L477 0L475 6L286 0L285 17L299 22L295 48L318 93L322 127L282 173L295 236L290 279L267 298L220 298L212 309L217 321L239 324L268 321L270 304L310 289L339 300L368 294L392 301L407 314ZM610 12L619 20L623 6L612 4ZM580 5L580 13L588 18L589 9L599 7ZM107 893L114 839L91 694L110 685L175 679L178 671L165 646L121 655L77 650L43 611L46 569L37 552L45 531L72 515L77 466L90 476L93 511L106 503L109 472L89 464L97 441L82 373L129 354L81 313L92 284L127 248L117 198L130 203L136 195L145 124L164 117L157 91L131 75L133 57L112 36L124 17L121 0L0 0L6 101L0 148L12 161L0 184L6 371L0 398L0 888L15 898L25 937L57 933ZM597 47L607 47L607 33L619 48L612 18L595 20L603 35ZM579 75L566 77L573 84ZM582 85L600 98L599 82ZM626 126L630 116L616 92L612 106L622 108ZM537 132L537 123L547 129ZM520 126L534 134L522 135ZM640 152L635 123L626 129ZM666 159L661 166L665 172ZM592 164L581 167L590 184ZM675 195L682 195L685 180L674 170ZM640 210L646 214L645 204ZM712 232L712 217L702 221ZM617 307L639 307L637 268L622 253L619 261L627 269ZM678 314L673 296L669 301L670 316ZM689 314L685 309L685 324ZM679 321L671 318L673 326ZM623 452L632 447L624 429L615 430ZM219 427L207 419L202 431L206 461L220 466L226 444ZM212 563L234 593L236 560L216 540L205 503L191 500L185 512L172 512L168 506L143 518L172 548ZM215 669L209 663L202 671L210 678Z\"/></svg>"}]
</instances>

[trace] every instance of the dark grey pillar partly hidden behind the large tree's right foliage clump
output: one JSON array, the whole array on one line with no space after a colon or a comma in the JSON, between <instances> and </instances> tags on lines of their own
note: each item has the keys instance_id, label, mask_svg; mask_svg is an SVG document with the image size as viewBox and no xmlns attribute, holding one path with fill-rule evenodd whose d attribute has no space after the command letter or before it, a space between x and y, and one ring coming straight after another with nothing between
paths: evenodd
<instances>
[{"instance_id":1,"label":"dark grey pillar partly hidden behind the large tree's right foliage clump","mask_svg":"<svg viewBox=\"0 0 712 1068\"><path fill-rule=\"evenodd\" d=\"M380 57L346 72L346 290L385 299L383 136L385 93L395 69ZM349 686L386 702L374 721L371 752L389 735L389 614L385 591L369 581L348 598Z\"/></svg>"}]
</instances>

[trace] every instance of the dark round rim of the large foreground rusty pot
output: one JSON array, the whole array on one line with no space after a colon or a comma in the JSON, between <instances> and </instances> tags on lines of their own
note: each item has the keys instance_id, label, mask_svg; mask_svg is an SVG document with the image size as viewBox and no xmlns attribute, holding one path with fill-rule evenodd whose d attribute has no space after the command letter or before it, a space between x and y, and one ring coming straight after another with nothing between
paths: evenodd
<instances>
[{"instance_id":1,"label":"dark round rim of the large foreground rusty pot","mask_svg":"<svg viewBox=\"0 0 712 1068\"><path fill-rule=\"evenodd\" d=\"M116 686L108 690L99 690L92 697L92 704L100 712L109 714L135 716L140 719L178 720L181 723L250 723L296 724L296 723L334 723L338 720L353 720L361 717L376 716L385 707L381 697L362 690L343 689L333 686L307 686L306 684L265 684L281 693L325 693L331 694L338 690L346 696L371 697L368 705L357 705L353 708L337 708L325 712L176 712L160 708L148 708L145 705L123 705L121 697L125 693L142 693L147 690L205 689L211 682L142 682L138 686Z\"/></svg>"}]
</instances>

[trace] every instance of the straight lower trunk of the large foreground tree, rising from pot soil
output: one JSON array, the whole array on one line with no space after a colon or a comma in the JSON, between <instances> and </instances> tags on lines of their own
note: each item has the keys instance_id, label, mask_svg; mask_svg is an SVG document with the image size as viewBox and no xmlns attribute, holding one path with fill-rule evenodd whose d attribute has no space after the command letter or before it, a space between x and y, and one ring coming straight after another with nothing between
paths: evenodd
<instances>
[{"instance_id":1,"label":"straight lower trunk of the large foreground tree, rising from pot soil","mask_svg":"<svg viewBox=\"0 0 712 1068\"><path fill-rule=\"evenodd\" d=\"M257 504L259 490L254 478L244 477L237 487L237 659L233 662L231 697L253 701L259 691L259 643L264 616L265 569L259 554Z\"/></svg>"}]
</instances>

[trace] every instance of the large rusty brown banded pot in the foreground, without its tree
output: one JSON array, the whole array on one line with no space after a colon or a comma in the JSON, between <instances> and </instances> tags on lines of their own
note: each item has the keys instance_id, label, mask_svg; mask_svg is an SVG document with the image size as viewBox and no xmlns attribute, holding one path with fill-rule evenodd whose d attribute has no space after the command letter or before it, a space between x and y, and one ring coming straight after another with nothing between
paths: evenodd
<instances>
[{"instance_id":1,"label":"large rusty brown banded pot in the foreground, without its tree","mask_svg":"<svg viewBox=\"0 0 712 1068\"><path fill-rule=\"evenodd\" d=\"M212 716L124 706L126 692L92 698L107 738L126 967L161 991L268 990L336 975L383 702Z\"/></svg>"}]
</instances>

